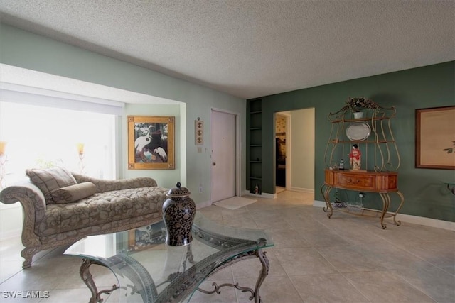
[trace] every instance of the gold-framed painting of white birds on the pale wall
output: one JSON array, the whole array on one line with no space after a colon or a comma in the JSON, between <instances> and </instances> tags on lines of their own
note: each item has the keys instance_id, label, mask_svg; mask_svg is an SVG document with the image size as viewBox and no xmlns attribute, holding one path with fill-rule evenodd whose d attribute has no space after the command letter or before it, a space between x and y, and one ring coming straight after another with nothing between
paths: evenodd
<instances>
[{"instance_id":1,"label":"gold-framed painting of white birds on the pale wall","mask_svg":"<svg viewBox=\"0 0 455 303\"><path fill-rule=\"evenodd\" d=\"M173 170L173 116L128 116L128 169Z\"/></svg>"}]
</instances>

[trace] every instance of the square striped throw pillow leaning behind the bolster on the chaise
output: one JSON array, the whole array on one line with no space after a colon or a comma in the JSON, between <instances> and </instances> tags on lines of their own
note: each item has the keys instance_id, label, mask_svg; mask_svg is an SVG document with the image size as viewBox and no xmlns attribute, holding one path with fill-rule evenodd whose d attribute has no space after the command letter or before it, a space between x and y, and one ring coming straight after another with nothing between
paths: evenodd
<instances>
[{"instance_id":1,"label":"square striped throw pillow leaning behind the bolster on the chaise","mask_svg":"<svg viewBox=\"0 0 455 303\"><path fill-rule=\"evenodd\" d=\"M26 170L26 175L31 182L43 192L46 204L53 203L52 192L54 189L77 184L71 172L63 167L45 169L33 168Z\"/></svg>"}]
</instances>

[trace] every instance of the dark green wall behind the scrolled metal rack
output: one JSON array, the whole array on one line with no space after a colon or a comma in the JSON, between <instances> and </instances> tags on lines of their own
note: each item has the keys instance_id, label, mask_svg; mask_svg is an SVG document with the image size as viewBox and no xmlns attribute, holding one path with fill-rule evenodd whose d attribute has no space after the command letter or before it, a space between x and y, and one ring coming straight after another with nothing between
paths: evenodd
<instances>
[{"instance_id":1,"label":"dark green wall behind the scrolled metal rack","mask_svg":"<svg viewBox=\"0 0 455 303\"><path fill-rule=\"evenodd\" d=\"M405 195L405 204L400 213L455 221L455 196L450 194L443 184L444 181L455 181L454 170L414 167L415 109L455 105L455 62L262 97L263 158L273 157L274 113L314 107L314 192L315 199L323 201L319 189L324 181L323 155L330 133L327 116L330 111L341 109L348 97L369 97L382 106L395 106L397 109L392 127L402 159L398 170L398 186ZM264 163L262 192L274 192L273 179L273 162ZM373 196L374 194L370 194L368 198L377 199ZM395 198L392 197L394 200ZM368 203L368 199L365 202Z\"/></svg>"}]
</instances>

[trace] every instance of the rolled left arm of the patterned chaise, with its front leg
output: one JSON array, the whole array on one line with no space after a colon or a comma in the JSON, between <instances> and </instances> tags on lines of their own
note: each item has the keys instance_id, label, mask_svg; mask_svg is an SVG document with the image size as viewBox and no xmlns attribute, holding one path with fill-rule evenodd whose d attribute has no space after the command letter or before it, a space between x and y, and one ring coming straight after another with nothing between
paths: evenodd
<instances>
[{"instance_id":1,"label":"rolled left arm of the patterned chaise, with its front leg","mask_svg":"<svg viewBox=\"0 0 455 303\"><path fill-rule=\"evenodd\" d=\"M33 234L36 222L41 222L45 216L44 194L36 185L29 181L18 182L5 187L0 192L0 202L4 204L21 202L23 208L23 235ZM27 243L23 244L26 245Z\"/></svg>"}]
</instances>

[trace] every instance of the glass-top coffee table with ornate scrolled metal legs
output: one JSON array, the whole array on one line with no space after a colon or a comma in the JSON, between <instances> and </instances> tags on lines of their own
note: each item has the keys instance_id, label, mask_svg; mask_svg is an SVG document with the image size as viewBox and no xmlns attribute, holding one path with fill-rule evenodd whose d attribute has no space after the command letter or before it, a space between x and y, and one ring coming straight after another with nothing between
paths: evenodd
<instances>
[{"instance_id":1,"label":"glass-top coffee table with ornate scrolled metal legs","mask_svg":"<svg viewBox=\"0 0 455 303\"><path fill-rule=\"evenodd\" d=\"M122 292L122 302L188 302L196 290L220 293L220 287L250 292L250 300L261 302L259 288L269 272L269 260L262 248L273 246L267 232L216 224L196 213L193 241L186 246L166 245L163 221L129 231L89 236L77 241L66 255L82 258L80 276L92 292L90 303L102 302L102 294ZM212 290L198 288L206 277L232 263L259 258L262 265L255 289L238 284L217 285ZM111 270L117 284L98 290L90 265Z\"/></svg>"}]
</instances>

